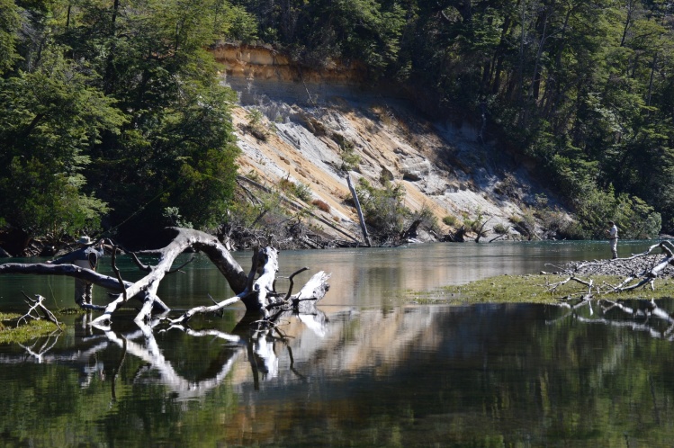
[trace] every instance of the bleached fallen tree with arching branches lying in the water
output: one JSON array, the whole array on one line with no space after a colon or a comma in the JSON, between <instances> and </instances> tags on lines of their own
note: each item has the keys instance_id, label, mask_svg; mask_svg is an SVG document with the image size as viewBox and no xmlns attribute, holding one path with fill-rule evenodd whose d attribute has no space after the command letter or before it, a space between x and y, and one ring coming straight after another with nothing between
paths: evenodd
<instances>
[{"instance_id":1,"label":"bleached fallen tree with arching branches lying in the water","mask_svg":"<svg viewBox=\"0 0 674 448\"><path fill-rule=\"evenodd\" d=\"M83 303L81 308L102 310L103 314L92 321L93 325L103 326L110 324L115 312L129 300L139 300L141 308L135 320L148 322L152 318L166 318L171 323L184 323L194 315L207 312L216 312L237 301L241 301L248 312L256 312L261 318L273 322L274 313L281 310L300 309L306 306L305 302L315 304L321 300L329 289L327 273L314 274L310 281L297 294L292 295L292 278L301 269L291 276L290 291L279 292L275 290L276 273L278 272L278 250L271 246L257 247L253 251L253 259L250 271L245 273L243 268L229 254L229 251L220 244L217 237L204 232L189 228L168 228L171 232L171 241L166 246L150 251L142 251L139 254L131 253L139 270L147 274L136 282L124 281L115 265L115 256L112 256L112 269L117 274L116 278L96 273L75 264L0 264L2 273L23 274L49 274L67 275L76 279L91 282L103 287L114 294L113 300L105 306ZM207 255L211 262L223 274L232 291L236 295L232 298L221 300L209 307L196 307L190 309L179 318L169 319L167 316L170 309L157 296L159 283L169 273L176 271L173 268L175 258L186 251L202 252ZM113 254L116 250L113 251ZM155 255L157 263L153 265L143 264L137 255ZM189 262L187 262L189 263ZM181 266L182 267L182 266ZM179 268L178 268L179 269Z\"/></svg>"}]
</instances>

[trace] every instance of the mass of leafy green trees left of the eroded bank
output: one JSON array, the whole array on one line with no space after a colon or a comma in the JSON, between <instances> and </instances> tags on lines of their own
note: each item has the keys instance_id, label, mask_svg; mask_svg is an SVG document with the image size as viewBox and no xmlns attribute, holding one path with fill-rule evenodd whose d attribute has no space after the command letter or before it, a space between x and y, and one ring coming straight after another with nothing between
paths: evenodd
<instances>
[{"instance_id":1,"label":"mass of leafy green trees left of the eroded bank","mask_svg":"<svg viewBox=\"0 0 674 448\"><path fill-rule=\"evenodd\" d=\"M0 13L6 223L58 237L96 230L105 216L151 233L179 210L194 227L218 226L236 177L235 95L205 48L253 39L253 18L215 0L23 7L31 40L6 38L16 9Z\"/></svg>"}]
</instances>

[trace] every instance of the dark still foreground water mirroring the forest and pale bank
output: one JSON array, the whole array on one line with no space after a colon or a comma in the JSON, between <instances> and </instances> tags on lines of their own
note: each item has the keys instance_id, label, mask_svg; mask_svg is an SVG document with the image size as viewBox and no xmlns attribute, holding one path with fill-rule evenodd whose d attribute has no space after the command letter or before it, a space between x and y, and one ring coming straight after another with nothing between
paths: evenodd
<instances>
[{"instance_id":1,"label":"dark still foreground water mirroring the forest and pale bank","mask_svg":"<svg viewBox=\"0 0 674 448\"><path fill-rule=\"evenodd\" d=\"M661 338L674 303L658 302L657 312L645 304L596 303L572 313L522 304L352 309L287 315L283 326L264 331L249 316L230 314L202 329L78 331L61 337L67 344L50 343L39 361L55 370L33 372L28 382L55 390L61 371L75 370L88 392L70 397L67 418L96 412L99 423L87 431L99 442L125 440L123 426L104 430L110 419L128 426L142 415L147 425L137 430L149 438L160 438L156 426L166 418L180 426L176 444L200 445L203 436L220 444L321 444L319 432L330 444L370 437L367 444L378 446L590 445L624 442L623 433L652 443L674 434L674 360ZM666 328L633 331L651 323ZM5 352L0 397L17 391L17 363L37 362ZM107 408L90 409L87 397ZM211 414L223 399L235 407ZM175 410L166 414L167 407ZM15 417L0 414L0 429L13 433ZM61 415L39 418L56 425ZM36 430L37 419L28 427ZM213 426L206 435L204 425ZM46 444L29 433L31 443Z\"/></svg>"}]
</instances>

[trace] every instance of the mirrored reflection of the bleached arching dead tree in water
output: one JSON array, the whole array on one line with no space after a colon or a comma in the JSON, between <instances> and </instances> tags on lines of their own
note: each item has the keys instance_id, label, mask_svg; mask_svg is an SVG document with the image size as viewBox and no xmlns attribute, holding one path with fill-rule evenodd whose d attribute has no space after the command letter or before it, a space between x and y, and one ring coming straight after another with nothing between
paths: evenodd
<instances>
[{"instance_id":1,"label":"mirrored reflection of the bleached arching dead tree in water","mask_svg":"<svg viewBox=\"0 0 674 448\"><path fill-rule=\"evenodd\" d=\"M287 344L288 336L283 335L279 325L284 321L296 319L298 322L309 324L307 327L313 332L325 334L327 319L322 311L313 309L311 314L299 314L292 311L276 313L272 321L260 319L259 314L247 312L241 318L231 333L216 328L194 329L187 325L172 324L166 327L164 321L155 319L148 324L136 321L136 328L130 331L115 331L112 327L89 326L86 319L81 326L86 328L77 345L67 353L51 353L58 341L59 333L47 338L40 338L32 345L22 345L25 353L35 363L64 363L76 365L81 372L80 386L87 387L94 376L103 379L104 371L110 375L112 400L117 396L115 383L121 364L128 356L133 356L144 364L144 367L134 375L135 384L157 384L165 386L171 391L175 399L193 399L201 397L210 390L219 387L225 378L232 372L235 364L247 356L254 383L274 379L279 374L279 358L277 353L286 349L292 357L292 350ZM272 324L272 325L270 325ZM278 325L275 325L278 324ZM164 325L164 327L162 327ZM93 328L94 334L91 334ZM166 354L157 343L157 335L166 332L181 331L189 337L208 337L225 343L220 355L212 360L208 372L198 380L185 378L178 372L174 363L166 358ZM82 345L85 345L83 347ZM121 349L121 356L116 361L104 365L99 357L103 351L111 346ZM21 363L26 360L25 355L0 356L0 363ZM301 376L290 367L292 372Z\"/></svg>"}]
</instances>

